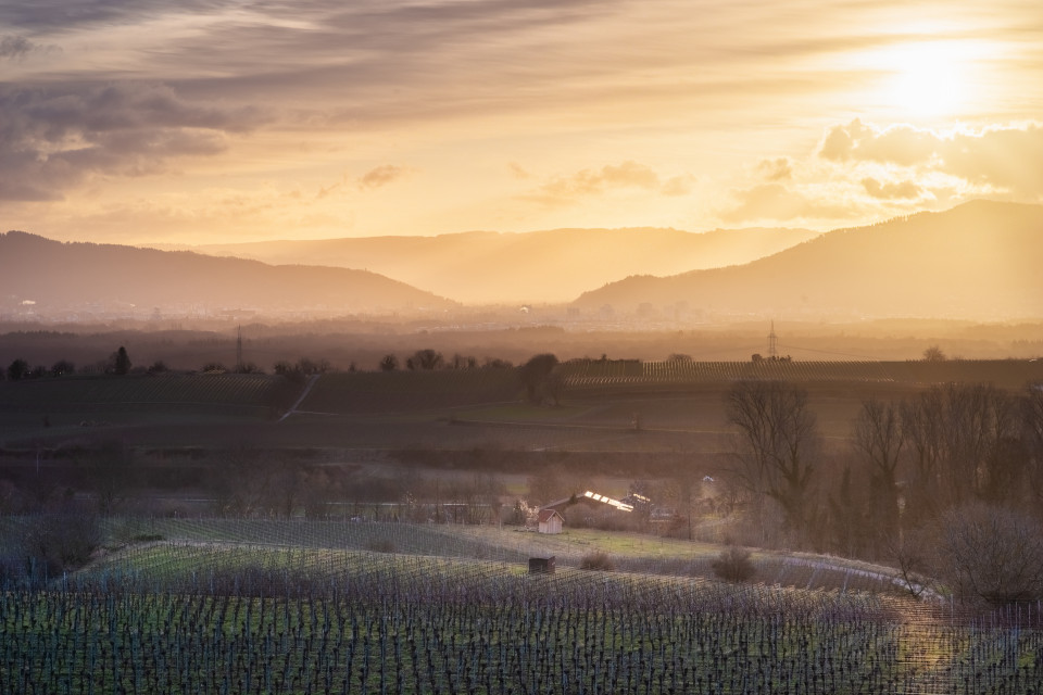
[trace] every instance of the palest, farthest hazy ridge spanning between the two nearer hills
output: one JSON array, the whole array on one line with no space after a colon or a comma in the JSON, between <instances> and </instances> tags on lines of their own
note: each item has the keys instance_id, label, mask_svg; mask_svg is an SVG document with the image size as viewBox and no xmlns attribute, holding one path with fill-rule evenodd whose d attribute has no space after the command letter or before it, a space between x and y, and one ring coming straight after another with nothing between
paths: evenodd
<instances>
[{"instance_id":1,"label":"palest, farthest hazy ridge spanning between the two nearer hills","mask_svg":"<svg viewBox=\"0 0 1043 695\"><path fill-rule=\"evenodd\" d=\"M568 302L629 275L747 263L816 236L807 229L553 229L206 244L194 250L268 263L366 268L461 302L487 304Z\"/></svg>"}]
</instances>

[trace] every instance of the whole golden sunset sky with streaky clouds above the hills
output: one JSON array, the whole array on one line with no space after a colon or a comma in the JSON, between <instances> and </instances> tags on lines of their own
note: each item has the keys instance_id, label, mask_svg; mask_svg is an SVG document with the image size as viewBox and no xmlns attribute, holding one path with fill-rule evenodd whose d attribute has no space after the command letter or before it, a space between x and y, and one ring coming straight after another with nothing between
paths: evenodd
<instances>
[{"instance_id":1,"label":"whole golden sunset sky with streaky clouds above the hills","mask_svg":"<svg viewBox=\"0 0 1043 695\"><path fill-rule=\"evenodd\" d=\"M0 0L0 229L206 243L1043 202L1038 0Z\"/></svg>"}]
</instances>

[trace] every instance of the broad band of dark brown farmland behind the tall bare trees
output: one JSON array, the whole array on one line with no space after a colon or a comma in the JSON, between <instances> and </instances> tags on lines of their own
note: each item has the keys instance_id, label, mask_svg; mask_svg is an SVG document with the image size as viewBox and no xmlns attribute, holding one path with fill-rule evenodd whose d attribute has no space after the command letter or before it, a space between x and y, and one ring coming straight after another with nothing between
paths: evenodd
<instances>
[{"instance_id":1,"label":"broad band of dark brown farmland behind the tall bare trees","mask_svg":"<svg viewBox=\"0 0 1043 695\"><path fill-rule=\"evenodd\" d=\"M727 363L713 363L713 369L699 363L683 369L662 365L582 365L583 374L599 382L567 388L557 407L525 403L516 374L507 369L330 374L319 377L298 410L281 419L277 404L288 407L304 388L281 377L179 375L3 382L0 446L53 447L84 439L118 439L136 446L165 447L249 442L272 448L450 452L476 447L727 450L730 434L724 399L731 382L719 376L730 374ZM576 369L565 368L566 374ZM731 370L745 368L739 363ZM673 380L665 379L664 371L674 375ZM807 389L809 406L827 439L849 437L862 401L870 396L903 397L951 380L988 381L1009 389L1043 381L1039 361L793 363L762 371L800 377L796 382ZM870 372L874 379L844 380ZM718 375L717 380L707 374Z\"/></svg>"}]
</instances>

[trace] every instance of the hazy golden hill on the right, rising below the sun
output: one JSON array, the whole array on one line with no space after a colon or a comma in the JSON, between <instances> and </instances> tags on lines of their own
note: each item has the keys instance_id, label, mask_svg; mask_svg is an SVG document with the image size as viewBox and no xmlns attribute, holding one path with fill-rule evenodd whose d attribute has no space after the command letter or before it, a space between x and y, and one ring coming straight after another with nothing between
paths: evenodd
<instances>
[{"instance_id":1,"label":"hazy golden hill on the right, rising below the sun","mask_svg":"<svg viewBox=\"0 0 1043 695\"><path fill-rule=\"evenodd\" d=\"M576 305L717 315L1043 316L1043 206L976 201L843 229L739 267L629 277Z\"/></svg>"}]
</instances>

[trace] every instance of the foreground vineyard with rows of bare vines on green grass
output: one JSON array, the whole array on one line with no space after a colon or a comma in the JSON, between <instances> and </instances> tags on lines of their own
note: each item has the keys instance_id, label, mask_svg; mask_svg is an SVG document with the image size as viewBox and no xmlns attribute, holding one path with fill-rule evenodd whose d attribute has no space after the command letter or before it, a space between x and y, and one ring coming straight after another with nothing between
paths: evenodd
<instances>
[{"instance_id":1,"label":"foreground vineyard with rows of bare vines on green grass","mask_svg":"<svg viewBox=\"0 0 1043 695\"><path fill-rule=\"evenodd\" d=\"M404 525L403 525L404 526ZM0 693L1027 693L1038 606L225 543L0 595Z\"/></svg>"}]
</instances>

